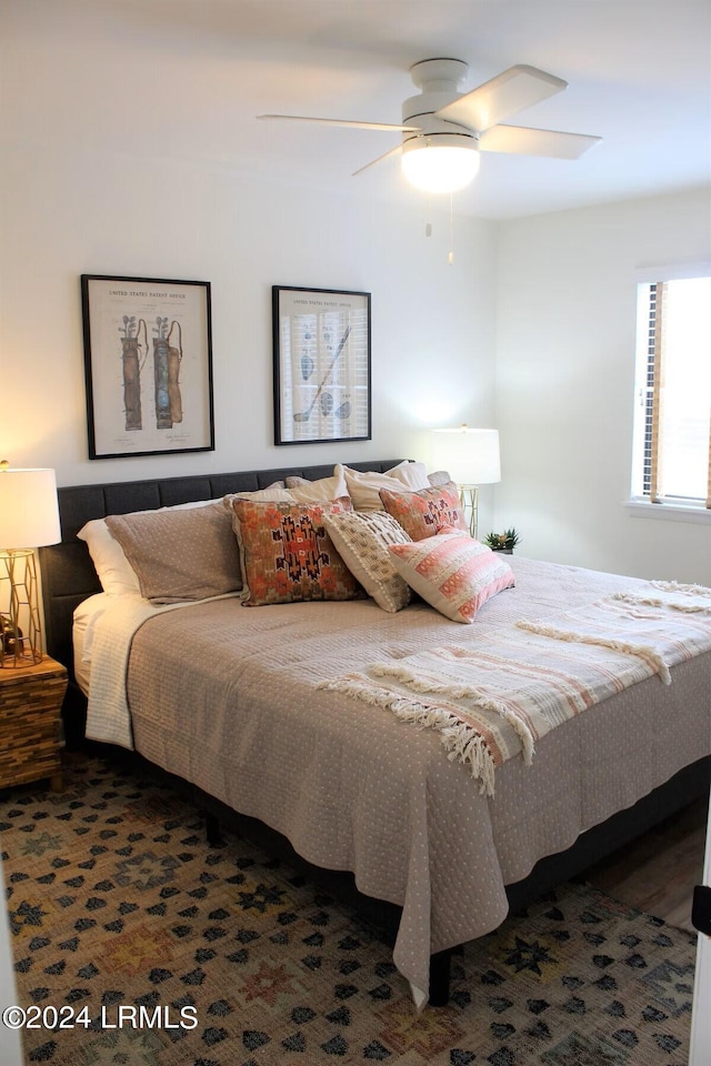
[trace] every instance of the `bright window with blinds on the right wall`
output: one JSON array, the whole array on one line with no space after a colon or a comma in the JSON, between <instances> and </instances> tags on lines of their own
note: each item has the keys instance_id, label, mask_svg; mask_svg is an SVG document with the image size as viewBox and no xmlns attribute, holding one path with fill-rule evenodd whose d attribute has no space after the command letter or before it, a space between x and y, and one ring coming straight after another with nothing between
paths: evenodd
<instances>
[{"instance_id":1,"label":"bright window with blinds on the right wall","mask_svg":"<svg viewBox=\"0 0 711 1066\"><path fill-rule=\"evenodd\" d=\"M658 276L638 286L632 493L711 509L711 269Z\"/></svg>"}]
</instances>

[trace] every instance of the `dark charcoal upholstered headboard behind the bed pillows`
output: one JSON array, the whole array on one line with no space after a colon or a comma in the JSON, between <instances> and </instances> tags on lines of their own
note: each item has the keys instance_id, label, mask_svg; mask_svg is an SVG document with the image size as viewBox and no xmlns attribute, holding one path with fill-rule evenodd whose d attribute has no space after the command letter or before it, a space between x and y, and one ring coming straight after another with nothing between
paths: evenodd
<instances>
[{"instance_id":1,"label":"dark charcoal upholstered headboard behind the bed pillows","mask_svg":"<svg viewBox=\"0 0 711 1066\"><path fill-rule=\"evenodd\" d=\"M398 459L368 460L349 463L356 470L385 471L401 462ZM60 544L40 549L44 635L48 653L73 671L71 626L78 604L94 592L101 592L87 545L77 533L91 519L107 514L127 514L169 507L193 500L214 500L228 492L264 489L273 481L298 475L316 481L329 477L333 464L320 466L284 466L277 470L238 471L228 474L204 474L189 477L152 479L117 482L106 485L74 485L59 489Z\"/></svg>"}]
</instances>

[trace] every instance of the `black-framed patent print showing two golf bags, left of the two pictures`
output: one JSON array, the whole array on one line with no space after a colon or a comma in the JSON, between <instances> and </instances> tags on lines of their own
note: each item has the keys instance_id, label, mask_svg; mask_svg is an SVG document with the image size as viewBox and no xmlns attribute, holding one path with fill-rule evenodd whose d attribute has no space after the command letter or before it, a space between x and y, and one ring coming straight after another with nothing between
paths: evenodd
<instances>
[{"instance_id":1,"label":"black-framed patent print showing two golf bags, left of the two pictures","mask_svg":"<svg viewBox=\"0 0 711 1066\"><path fill-rule=\"evenodd\" d=\"M214 451L210 282L82 274L81 303L89 459Z\"/></svg>"}]
</instances>

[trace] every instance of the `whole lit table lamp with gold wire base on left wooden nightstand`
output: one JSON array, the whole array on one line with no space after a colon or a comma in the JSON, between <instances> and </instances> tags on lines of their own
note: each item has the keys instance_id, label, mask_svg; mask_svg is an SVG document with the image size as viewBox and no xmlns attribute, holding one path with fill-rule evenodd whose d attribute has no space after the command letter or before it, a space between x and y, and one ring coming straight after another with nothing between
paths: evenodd
<instances>
[{"instance_id":1,"label":"whole lit table lamp with gold wire base on left wooden nightstand","mask_svg":"<svg viewBox=\"0 0 711 1066\"><path fill-rule=\"evenodd\" d=\"M0 667L42 661L34 549L60 540L54 471L0 462Z\"/></svg>"}]
</instances>

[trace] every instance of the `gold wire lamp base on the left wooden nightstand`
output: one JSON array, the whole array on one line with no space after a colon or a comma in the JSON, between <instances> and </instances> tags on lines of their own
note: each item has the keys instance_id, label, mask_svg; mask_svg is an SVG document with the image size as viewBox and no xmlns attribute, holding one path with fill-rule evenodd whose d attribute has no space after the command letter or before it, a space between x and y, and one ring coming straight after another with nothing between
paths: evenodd
<instances>
[{"instance_id":1,"label":"gold wire lamp base on the left wooden nightstand","mask_svg":"<svg viewBox=\"0 0 711 1066\"><path fill-rule=\"evenodd\" d=\"M34 552L0 551L0 668L18 670L41 662Z\"/></svg>"}]
</instances>

